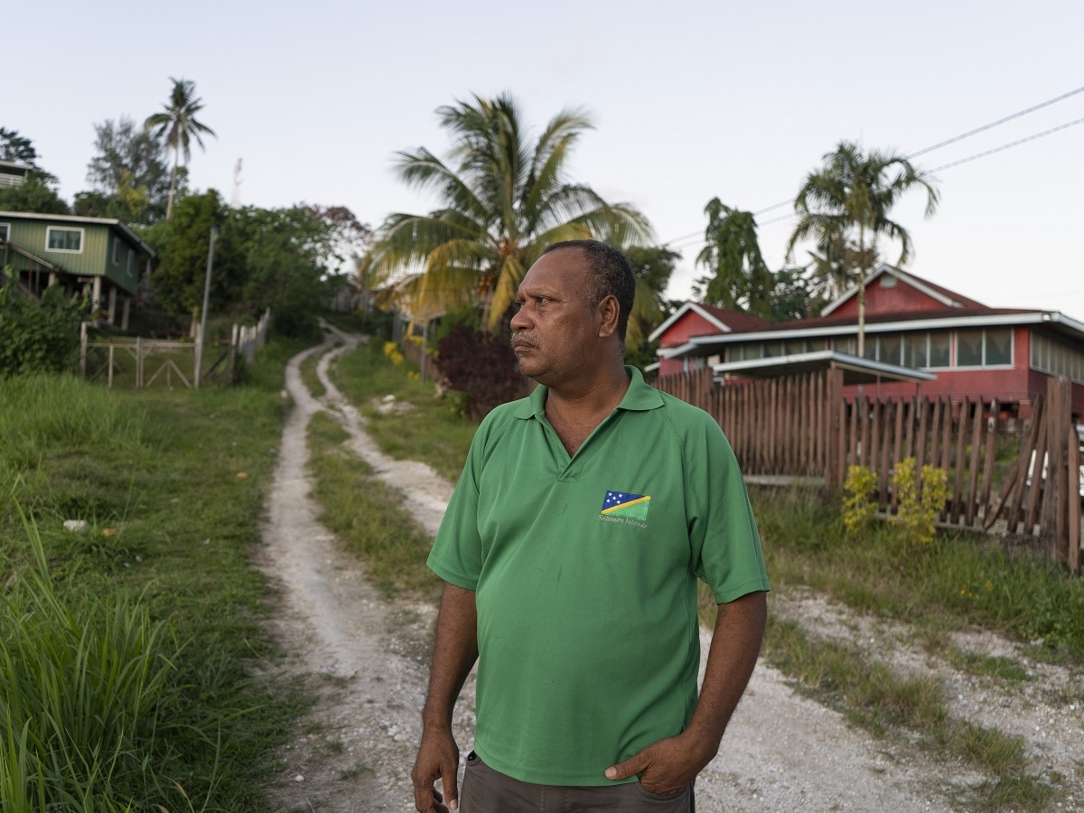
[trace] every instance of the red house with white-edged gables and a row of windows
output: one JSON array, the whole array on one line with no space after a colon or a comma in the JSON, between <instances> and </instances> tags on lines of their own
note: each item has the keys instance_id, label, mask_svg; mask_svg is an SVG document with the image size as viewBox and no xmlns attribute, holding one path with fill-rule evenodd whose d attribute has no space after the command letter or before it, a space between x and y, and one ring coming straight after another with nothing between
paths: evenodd
<instances>
[{"instance_id":1,"label":"red house with white-edged gables and a row of windows","mask_svg":"<svg viewBox=\"0 0 1084 813\"><path fill-rule=\"evenodd\" d=\"M686 302L651 334L657 372L710 365L725 383L830 358L864 371L877 387L867 387L869 395L997 398L1020 417L1046 392L1048 377L1064 375L1073 382L1073 412L1084 415L1084 323L1059 311L990 308L888 264L865 291L862 359L854 286L820 318L778 324ZM908 371L916 374L909 380Z\"/></svg>"}]
</instances>

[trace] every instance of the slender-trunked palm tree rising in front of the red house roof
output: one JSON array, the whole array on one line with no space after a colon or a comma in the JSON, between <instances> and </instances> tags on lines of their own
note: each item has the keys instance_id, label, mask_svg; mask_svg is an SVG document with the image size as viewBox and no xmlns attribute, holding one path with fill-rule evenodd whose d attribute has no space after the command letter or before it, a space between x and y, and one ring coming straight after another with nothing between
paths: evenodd
<instances>
[{"instance_id":1,"label":"slender-trunked palm tree rising in front of the red house roof","mask_svg":"<svg viewBox=\"0 0 1084 813\"><path fill-rule=\"evenodd\" d=\"M787 256L793 254L799 240L809 236L817 237L822 247L838 245L839 241L844 246L849 242L857 246L859 356L863 356L866 274L877 241L882 236L900 241L900 264L912 253L911 235L889 219L889 212L914 186L926 190L926 217L937 210L939 196L932 179L895 152L863 153L857 144L841 141L835 152L825 154L824 160L824 167L809 173L795 198L799 220L787 244Z\"/></svg>"}]
</instances>

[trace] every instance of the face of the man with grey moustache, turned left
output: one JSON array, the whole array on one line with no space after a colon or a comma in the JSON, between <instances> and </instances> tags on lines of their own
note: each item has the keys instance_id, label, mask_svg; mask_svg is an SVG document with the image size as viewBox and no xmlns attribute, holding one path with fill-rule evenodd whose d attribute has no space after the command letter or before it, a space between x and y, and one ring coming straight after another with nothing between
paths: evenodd
<instances>
[{"instance_id":1,"label":"face of the man with grey moustache, turned left","mask_svg":"<svg viewBox=\"0 0 1084 813\"><path fill-rule=\"evenodd\" d=\"M579 248L558 248L531 266L519 284L519 310L512 318L512 349L524 375L553 386L592 366L599 319L589 301L589 279Z\"/></svg>"}]
</instances>

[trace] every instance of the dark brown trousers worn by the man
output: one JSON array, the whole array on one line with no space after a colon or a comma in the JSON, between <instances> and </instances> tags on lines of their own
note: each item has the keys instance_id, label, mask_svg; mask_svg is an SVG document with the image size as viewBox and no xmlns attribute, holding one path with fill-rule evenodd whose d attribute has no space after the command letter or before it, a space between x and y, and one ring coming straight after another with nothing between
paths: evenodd
<instances>
[{"instance_id":1,"label":"dark brown trousers worn by the man","mask_svg":"<svg viewBox=\"0 0 1084 813\"><path fill-rule=\"evenodd\" d=\"M560 787L520 782L498 773L472 751L460 792L461 813L696 813L693 785L676 796L658 796L638 782L598 787Z\"/></svg>"}]
</instances>

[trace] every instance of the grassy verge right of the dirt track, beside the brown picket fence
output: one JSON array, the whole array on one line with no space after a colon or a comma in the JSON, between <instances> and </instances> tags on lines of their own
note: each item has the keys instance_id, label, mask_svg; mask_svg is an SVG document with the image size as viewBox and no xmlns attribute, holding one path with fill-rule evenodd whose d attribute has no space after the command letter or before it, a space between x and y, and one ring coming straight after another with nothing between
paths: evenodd
<instances>
[{"instance_id":1,"label":"grassy verge right of the dirt track, beside the brown picket fence","mask_svg":"<svg viewBox=\"0 0 1084 813\"><path fill-rule=\"evenodd\" d=\"M450 405L435 403L431 388L420 388L375 346L344 357L333 374L354 403L391 393L414 404L416 411L406 414L365 408L371 434L392 456L423 460L457 476L474 424ZM813 588L860 614L913 624L928 653L978 676L1021 681L1027 673L1011 658L955 649L950 630L981 628L1019 642L1041 640L1031 644L1029 657L1084 662L1082 580L963 535L943 534L931 550L916 551L881 528L855 543L844 538L838 509L815 496L751 491L777 594ZM704 606L710 623L710 596ZM880 737L906 732L939 757L994 777L959 800L969 809L1044 810L1058 798L1057 788L1029 773L1021 740L951 719L942 689L929 679L894 674L856 647L817 638L779 619L770 625L764 656L852 723Z\"/></svg>"}]
</instances>

